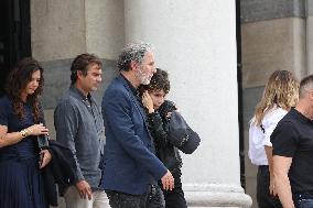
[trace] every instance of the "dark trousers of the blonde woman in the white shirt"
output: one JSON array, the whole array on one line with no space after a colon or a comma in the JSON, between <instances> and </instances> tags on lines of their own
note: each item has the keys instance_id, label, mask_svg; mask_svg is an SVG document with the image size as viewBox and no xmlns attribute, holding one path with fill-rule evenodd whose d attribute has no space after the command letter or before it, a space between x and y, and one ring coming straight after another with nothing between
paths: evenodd
<instances>
[{"instance_id":1,"label":"dark trousers of the blonde woman in the white shirt","mask_svg":"<svg viewBox=\"0 0 313 208\"><path fill-rule=\"evenodd\" d=\"M282 208L278 197L270 195L270 172L268 165L260 165L257 175L257 201L259 208Z\"/></svg>"}]
</instances>

